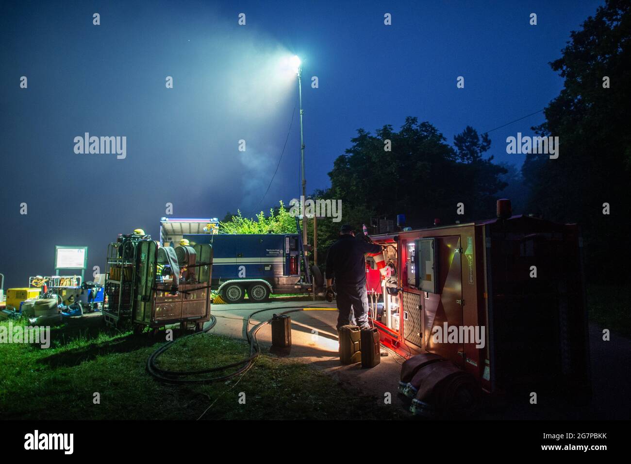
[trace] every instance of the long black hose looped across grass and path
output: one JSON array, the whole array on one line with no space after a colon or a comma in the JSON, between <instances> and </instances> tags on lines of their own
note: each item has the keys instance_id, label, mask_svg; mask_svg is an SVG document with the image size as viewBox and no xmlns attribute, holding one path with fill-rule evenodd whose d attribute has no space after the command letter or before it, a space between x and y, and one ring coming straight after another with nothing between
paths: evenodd
<instances>
[{"instance_id":1,"label":"long black hose looped across grass and path","mask_svg":"<svg viewBox=\"0 0 631 464\"><path fill-rule=\"evenodd\" d=\"M247 327L250 326L250 319L252 318L252 316L254 316L254 314L259 314L259 312L274 311L276 309L290 309L289 311L283 311L279 313L279 314L288 314L290 312L304 311L303 306L278 306L278 307L269 307L265 309L259 309L258 311L252 312L252 314L250 314L247 317ZM329 307L326 307L326 306L314 306L314 308L316 307L322 308L322 309L330 309ZM208 327L204 328L204 330L200 332L196 332L196 333L191 333L189 335L185 335L183 337L180 337L178 340L186 338L187 336L194 336L194 335L199 335L202 333L208 333L213 327L215 327L215 324L217 323L217 319L215 318L215 316L211 315L210 318L211 318L210 324L208 325ZM262 326L269 324L271 321L272 319L269 319L268 321L263 321L257 324L256 326L254 326L254 328L252 328L252 331L246 330L245 335L247 336L247 341L250 343L250 355L249 357L239 360L237 362L232 362L230 364L225 364L223 366L211 367L209 369L201 369L198 371L167 371L165 369L160 369L160 367L156 366L156 360L158 359L158 356L163 354L166 350L168 350L168 348L172 347L172 345L175 343L175 340L172 340L170 342L165 343L164 345L162 345L162 347L158 348L153 353L151 353L150 357L147 359L146 369L151 374L151 376L167 383L202 383L202 382L216 382L216 381L228 380L230 378L238 376L239 374L244 373L245 371L250 369L250 367L252 367L254 360L256 360L256 358L259 357L259 355L261 354L261 347L259 347L259 342L256 338L256 334L259 330L261 330ZM187 376L195 376L199 374L209 374L211 372L226 371L227 369L231 369L232 367L239 367L239 369L237 369L236 371L230 372L229 374L225 374L223 376L218 376L218 377L212 377L212 378L204 378L204 379L181 378L181 377L187 377Z\"/></svg>"}]
</instances>

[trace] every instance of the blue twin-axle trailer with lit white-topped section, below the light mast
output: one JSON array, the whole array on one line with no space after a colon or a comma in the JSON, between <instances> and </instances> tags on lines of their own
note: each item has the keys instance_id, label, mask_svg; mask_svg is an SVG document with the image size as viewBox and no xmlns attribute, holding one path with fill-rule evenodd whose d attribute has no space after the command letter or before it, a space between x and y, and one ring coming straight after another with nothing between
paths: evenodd
<instances>
[{"instance_id":1,"label":"blue twin-axle trailer with lit white-topped section, below the light mast","mask_svg":"<svg viewBox=\"0 0 631 464\"><path fill-rule=\"evenodd\" d=\"M254 302L270 294L309 293L309 273L302 277L300 234L220 234L216 218L161 218L160 244L211 244L211 289L228 303ZM306 280L306 282L305 282Z\"/></svg>"}]
</instances>

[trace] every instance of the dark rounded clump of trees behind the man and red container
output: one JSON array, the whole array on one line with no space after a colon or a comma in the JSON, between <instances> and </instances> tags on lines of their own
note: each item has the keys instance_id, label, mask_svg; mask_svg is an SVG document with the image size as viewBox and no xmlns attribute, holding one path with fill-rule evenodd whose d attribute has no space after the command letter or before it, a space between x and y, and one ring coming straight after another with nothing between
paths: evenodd
<instances>
[{"instance_id":1,"label":"dark rounded clump of trees behind the man and red container","mask_svg":"<svg viewBox=\"0 0 631 464\"><path fill-rule=\"evenodd\" d=\"M391 151L386 151L390 141ZM329 172L329 198L339 198L345 211L353 211L360 227L371 217L394 218L406 214L416 227L443 222L477 219L490 215L495 194L504 187L498 175L504 169L484 159L490 140L480 138L473 128L456 136L457 150L429 122L406 117L397 132L386 125L375 135L359 129L353 144L338 157ZM465 203L465 215L456 214L457 203ZM488 208L488 205L491 208ZM349 222L346 217L343 222Z\"/></svg>"}]
</instances>

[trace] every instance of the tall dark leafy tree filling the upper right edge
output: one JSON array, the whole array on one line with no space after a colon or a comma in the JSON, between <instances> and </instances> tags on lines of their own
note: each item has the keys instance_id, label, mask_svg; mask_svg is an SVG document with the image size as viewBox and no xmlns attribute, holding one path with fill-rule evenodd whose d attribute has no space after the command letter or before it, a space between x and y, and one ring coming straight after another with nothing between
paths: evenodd
<instances>
[{"instance_id":1,"label":"tall dark leafy tree filling the upper right edge","mask_svg":"<svg viewBox=\"0 0 631 464\"><path fill-rule=\"evenodd\" d=\"M622 260L614 270L611 257L627 241L620 225L628 221L631 206L630 9L628 1L607 0L570 34L562 56L550 63L565 79L563 90L546 107L546 121L533 129L558 137L559 156L529 154L522 167L531 189L529 209L578 222L587 267L608 266L618 275L629 274ZM604 203L610 203L610 215L603 215Z\"/></svg>"}]
</instances>

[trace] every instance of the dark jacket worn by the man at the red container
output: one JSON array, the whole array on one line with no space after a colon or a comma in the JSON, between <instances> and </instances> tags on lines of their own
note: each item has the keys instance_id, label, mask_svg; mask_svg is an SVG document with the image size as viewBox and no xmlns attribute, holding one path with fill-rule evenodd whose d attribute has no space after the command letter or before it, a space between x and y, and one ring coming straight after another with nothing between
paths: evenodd
<instances>
[{"instance_id":1,"label":"dark jacket worn by the man at the red container","mask_svg":"<svg viewBox=\"0 0 631 464\"><path fill-rule=\"evenodd\" d=\"M366 282L364 254L380 251L380 245L357 239L353 235L341 235L329 248L326 257L326 278L335 278L336 285Z\"/></svg>"}]
</instances>

